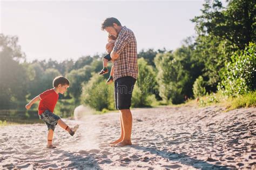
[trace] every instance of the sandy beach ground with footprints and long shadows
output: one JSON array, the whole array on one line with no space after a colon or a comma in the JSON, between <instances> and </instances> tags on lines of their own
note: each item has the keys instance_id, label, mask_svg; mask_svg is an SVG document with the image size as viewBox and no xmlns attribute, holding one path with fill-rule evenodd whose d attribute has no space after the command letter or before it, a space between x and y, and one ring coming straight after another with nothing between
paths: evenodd
<instances>
[{"instance_id":1,"label":"sandy beach ground with footprints and long shadows","mask_svg":"<svg viewBox=\"0 0 256 170\"><path fill-rule=\"evenodd\" d=\"M44 124L0 127L0 168L256 169L256 108L159 107L133 109L132 146L110 147L119 137L119 113L66 120L47 149Z\"/></svg>"}]
</instances>

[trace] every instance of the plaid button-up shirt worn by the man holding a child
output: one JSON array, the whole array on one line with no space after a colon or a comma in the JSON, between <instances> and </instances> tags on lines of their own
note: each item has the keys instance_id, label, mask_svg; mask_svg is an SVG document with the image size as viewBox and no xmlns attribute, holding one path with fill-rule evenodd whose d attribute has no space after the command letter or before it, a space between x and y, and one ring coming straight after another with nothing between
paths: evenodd
<instances>
[{"instance_id":1,"label":"plaid button-up shirt worn by the man holding a child","mask_svg":"<svg viewBox=\"0 0 256 170\"><path fill-rule=\"evenodd\" d=\"M132 30L123 26L116 43L114 43L113 51L119 55L118 59L114 61L114 81L125 76L137 79L137 42Z\"/></svg>"}]
</instances>

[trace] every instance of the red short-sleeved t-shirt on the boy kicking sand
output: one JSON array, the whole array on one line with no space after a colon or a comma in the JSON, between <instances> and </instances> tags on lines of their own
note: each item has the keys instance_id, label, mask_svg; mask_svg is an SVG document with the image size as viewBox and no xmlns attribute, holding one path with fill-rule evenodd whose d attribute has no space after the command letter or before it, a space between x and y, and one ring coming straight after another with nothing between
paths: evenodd
<instances>
[{"instance_id":1,"label":"red short-sleeved t-shirt on the boy kicking sand","mask_svg":"<svg viewBox=\"0 0 256 170\"><path fill-rule=\"evenodd\" d=\"M39 97L41 100L38 106L38 114L41 115L46 110L53 112L58 101L59 94L57 94L53 89L50 89L39 94Z\"/></svg>"}]
</instances>

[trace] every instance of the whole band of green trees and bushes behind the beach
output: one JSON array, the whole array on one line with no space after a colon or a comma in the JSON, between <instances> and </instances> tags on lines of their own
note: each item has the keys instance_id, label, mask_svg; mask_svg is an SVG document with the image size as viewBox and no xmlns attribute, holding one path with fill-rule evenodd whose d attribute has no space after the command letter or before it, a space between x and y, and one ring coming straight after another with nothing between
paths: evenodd
<instances>
[{"instance_id":1,"label":"whole band of green trees and bushes behind the beach","mask_svg":"<svg viewBox=\"0 0 256 170\"><path fill-rule=\"evenodd\" d=\"M132 106L180 104L206 93L236 97L255 91L255 5L255 1L234 0L224 7L218 0L205 1L201 15L191 19L196 36L173 51L140 51ZM105 84L108 75L98 74L102 56L26 62L18 37L1 34L0 110L24 111L26 101L50 89L59 75L71 85L59 98L58 114L69 116L80 104L114 110L113 85Z\"/></svg>"}]
</instances>

